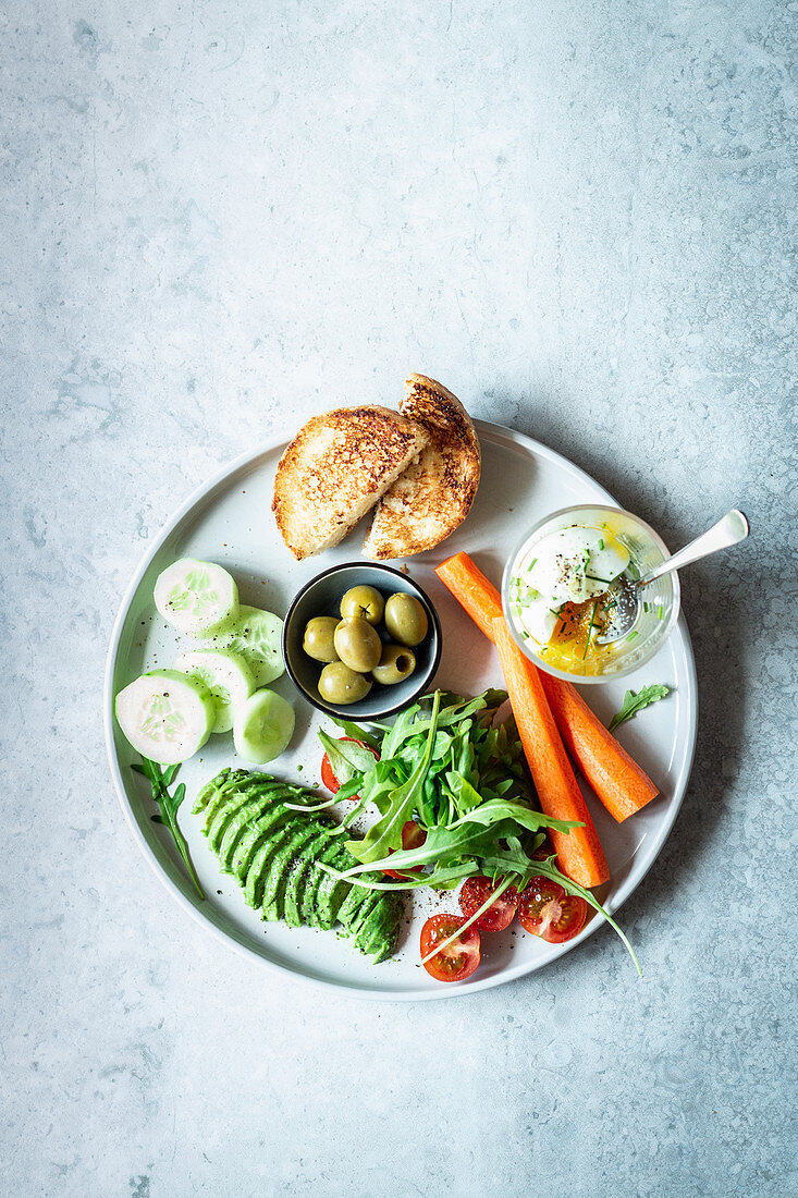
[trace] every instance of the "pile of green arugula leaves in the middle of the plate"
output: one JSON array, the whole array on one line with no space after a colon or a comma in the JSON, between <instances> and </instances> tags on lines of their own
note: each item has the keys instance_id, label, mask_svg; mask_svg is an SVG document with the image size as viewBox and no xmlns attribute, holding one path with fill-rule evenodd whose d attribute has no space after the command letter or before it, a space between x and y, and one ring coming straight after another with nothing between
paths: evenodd
<instances>
[{"instance_id":1,"label":"pile of green arugula leaves in the middle of the plate","mask_svg":"<svg viewBox=\"0 0 798 1198\"><path fill-rule=\"evenodd\" d=\"M561 873L554 855L540 860L546 828L567 835L581 825L539 811L512 713L496 722L506 700L507 692L500 690L474 698L435 691L401 712L391 726L370 724L364 732L351 720L335 721L347 737L370 744L379 760L359 745L320 732L335 776L345 779L337 798L359 795L339 830L351 827L367 805L374 805L379 813L363 840L346 841L357 864L344 871L332 865L322 869L368 890L451 890L478 873L502 889L513 885L521 890L531 878L543 875L568 894L585 898L631 952L625 936L591 891ZM401 831L410 819L427 839L404 849ZM404 876L382 881L380 871L386 869ZM631 956L637 964L634 952Z\"/></svg>"}]
</instances>

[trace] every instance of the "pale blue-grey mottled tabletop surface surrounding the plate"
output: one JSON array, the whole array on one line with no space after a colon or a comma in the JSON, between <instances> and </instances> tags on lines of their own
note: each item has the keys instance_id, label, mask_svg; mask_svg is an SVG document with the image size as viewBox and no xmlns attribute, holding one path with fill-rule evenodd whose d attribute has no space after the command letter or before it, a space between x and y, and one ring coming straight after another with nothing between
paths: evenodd
<instances>
[{"instance_id":1,"label":"pale blue-grey mottled tabletop surface surrounding the plate","mask_svg":"<svg viewBox=\"0 0 798 1198\"><path fill-rule=\"evenodd\" d=\"M5 1192L794 1192L794 13L0 12ZM303 990L123 823L101 682L147 539L411 369L672 544L751 519L684 579L699 755L623 910L642 981L605 931L465 1002Z\"/></svg>"}]
</instances>

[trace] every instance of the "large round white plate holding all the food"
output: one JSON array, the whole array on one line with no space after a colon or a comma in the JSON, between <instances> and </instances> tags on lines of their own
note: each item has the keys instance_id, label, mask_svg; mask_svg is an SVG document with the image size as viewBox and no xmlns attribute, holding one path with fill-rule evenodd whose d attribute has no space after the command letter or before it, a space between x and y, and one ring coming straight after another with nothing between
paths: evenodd
<instances>
[{"instance_id":1,"label":"large round white plate holding all the food","mask_svg":"<svg viewBox=\"0 0 798 1198\"><path fill-rule=\"evenodd\" d=\"M466 550L496 585L506 556L531 526L548 512L574 503L610 502L612 497L588 474L560 454L510 429L477 422L483 449L483 474L473 509L437 550L409 559L409 569L435 603L443 627L443 655L436 685L463 694L477 694L502 685L492 646L477 630L435 576L445 557ZM192 813L200 786L224 766L247 764L236 758L232 738L211 737L199 756L181 768L187 798L180 824L207 895L200 901L193 890L163 827L152 821L155 806L144 779L131 764L137 760L113 716L114 696L137 674L156 666L170 666L186 648L185 639L158 617L152 605L157 575L179 557L199 557L226 567L238 582L243 603L283 615L300 587L319 570L337 562L361 557L368 518L337 549L321 558L295 562L285 549L271 513L274 468L285 442L267 444L226 466L201 486L173 516L140 563L114 627L105 674L105 734L114 783L133 834L152 867L179 902L229 944L248 952L271 969L280 969L309 981L349 991L363 998L401 1000L453 998L510 981L532 973L576 948L604 922L594 916L580 936L563 945L545 944L513 928L483 936L479 969L465 982L442 985L418 966L422 924L434 909L453 908L453 897L441 900L422 891L412 900L412 918L405 927L395 960L375 966L345 939L315 928L291 928L264 924L243 901L236 882L220 875L217 859L201 834L201 816ZM690 773L696 732L696 680L693 652L684 619L681 619L659 655L639 674L621 682L585 688L585 697L603 720L621 706L627 688L666 683L673 694L647 708L618 730L618 739L654 779L660 795L639 815L617 824L586 792L586 798L612 879L598 893L615 912L642 881L657 858L676 818ZM288 677L274 689L289 698L297 713L291 749L268 767L279 778L319 786L319 725L334 731L295 691ZM604 938L605 951L625 957L612 933ZM625 957L629 969L634 966Z\"/></svg>"}]
</instances>

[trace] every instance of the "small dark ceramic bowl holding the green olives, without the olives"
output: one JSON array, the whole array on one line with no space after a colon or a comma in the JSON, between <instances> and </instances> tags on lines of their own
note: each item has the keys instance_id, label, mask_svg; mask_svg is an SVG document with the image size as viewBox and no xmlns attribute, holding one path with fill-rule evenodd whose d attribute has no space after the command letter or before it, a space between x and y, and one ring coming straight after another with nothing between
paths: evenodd
<instances>
[{"instance_id":1,"label":"small dark ceramic bowl holding the green olives, without the olives","mask_svg":"<svg viewBox=\"0 0 798 1198\"><path fill-rule=\"evenodd\" d=\"M365 698L338 707L326 703L320 696L318 682L322 664L307 655L302 648L302 637L308 621L314 616L338 616L344 594L350 587L357 586L375 587L383 599L397 593L413 595L427 612L429 630L422 643L413 648L416 668L410 678L395 686L382 686L375 682ZM385 641L389 640L382 627L377 630ZM441 660L442 640L437 612L417 582L389 565L349 562L318 574L295 597L283 627L283 658L294 685L320 712L356 721L380 720L407 707L429 689Z\"/></svg>"}]
</instances>

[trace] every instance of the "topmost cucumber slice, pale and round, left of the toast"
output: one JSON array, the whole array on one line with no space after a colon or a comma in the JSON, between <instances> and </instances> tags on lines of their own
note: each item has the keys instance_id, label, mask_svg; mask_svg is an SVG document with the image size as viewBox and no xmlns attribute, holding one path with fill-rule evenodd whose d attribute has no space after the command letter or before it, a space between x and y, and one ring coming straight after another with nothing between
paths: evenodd
<instances>
[{"instance_id":1,"label":"topmost cucumber slice, pale and round, left of the toast","mask_svg":"<svg viewBox=\"0 0 798 1198\"><path fill-rule=\"evenodd\" d=\"M153 599L167 623L187 636L213 636L238 613L234 579L194 557L181 557L158 575Z\"/></svg>"}]
</instances>

